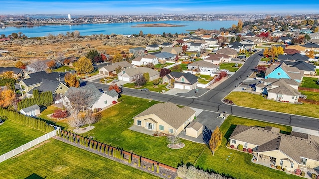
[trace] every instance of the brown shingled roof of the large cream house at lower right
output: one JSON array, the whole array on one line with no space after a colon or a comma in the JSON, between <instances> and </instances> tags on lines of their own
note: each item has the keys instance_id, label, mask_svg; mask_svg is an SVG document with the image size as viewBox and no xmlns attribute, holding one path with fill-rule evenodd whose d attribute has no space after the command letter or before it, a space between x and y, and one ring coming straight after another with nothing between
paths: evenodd
<instances>
[{"instance_id":1,"label":"brown shingled roof of the large cream house at lower right","mask_svg":"<svg viewBox=\"0 0 319 179\"><path fill-rule=\"evenodd\" d=\"M300 157L319 161L319 137L304 134L301 137L271 132L261 127L237 125L231 139L258 145L257 152L280 150L300 163Z\"/></svg>"}]
</instances>

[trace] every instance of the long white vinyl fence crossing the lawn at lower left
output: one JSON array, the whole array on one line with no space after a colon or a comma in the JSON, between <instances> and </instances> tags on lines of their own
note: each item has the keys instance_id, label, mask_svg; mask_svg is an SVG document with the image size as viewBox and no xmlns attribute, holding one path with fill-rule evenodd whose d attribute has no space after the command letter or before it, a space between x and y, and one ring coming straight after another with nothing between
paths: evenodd
<instances>
[{"instance_id":1,"label":"long white vinyl fence crossing the lawn at lower left","mask_svg":"<svg viewBox=\"0 0 319 179\"><path fill-rule=\"evenodd\" d=\"M0 163L5 161L5 160L7 160L7 159L9 159L9 158L11 158L11 157L13 157L13 156L15 156L15 155L17 155L17 154L19 154L19 153L21 153L21 152L23 152L23 151L28 150L29 148L31 148L31 147L33 147L33 146L35 146L35 145L37 145L37 144L39 144L39 143L41 143L41 142L43 142L45 140L50 139L51 137L56 136L56 130L60 130L60 128L55 129L54 131L51 131L51 132L49 132L47 134L44 134L41 137L38 137L38 138L36 138L36 139L34 139L34 140L24 144L24 145L21 145L18 148L15 148L15 149L11 150L10 152L7 152L7 153L1 155L0 156Z\"/></svg>"}]
</instances>

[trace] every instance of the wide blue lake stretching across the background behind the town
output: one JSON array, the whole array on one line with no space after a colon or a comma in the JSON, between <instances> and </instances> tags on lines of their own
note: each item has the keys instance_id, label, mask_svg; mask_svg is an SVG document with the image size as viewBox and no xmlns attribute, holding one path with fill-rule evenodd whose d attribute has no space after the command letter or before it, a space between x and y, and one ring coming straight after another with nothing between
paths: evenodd
<instances>
[{"instance_id":1,"label":"wide blue lake stretching across the background behind the town","mask_svg":"<svg viewBox=\"0 0 319 179\"><path fill-rule=\"evenodd\" d=\"M28 37L42 37L49 34L57 35L60 33L73 32L78 30L80 35L93 34L166 34L185 33L186 30L206 29L219 30L221 27L229 28L238 21L160 21L160 22L129 22L129 23L107 23L107 24L81 24L81 25L43 25L33 27L6 27L0 28L0 34L10 35L12 33L22 32ZM132 27L137 24L147 23L168 23L176 25L185 25L183 27ZM23 35L22 34L22 35Z\"/></svg>"}]
</instances>

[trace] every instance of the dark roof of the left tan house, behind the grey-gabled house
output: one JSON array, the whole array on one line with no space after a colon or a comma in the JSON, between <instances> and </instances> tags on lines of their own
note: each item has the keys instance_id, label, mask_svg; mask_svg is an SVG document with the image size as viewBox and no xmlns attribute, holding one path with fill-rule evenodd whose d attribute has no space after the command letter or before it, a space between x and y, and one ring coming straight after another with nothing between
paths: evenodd
<instances>
[{"instance_id":1,"label":"dark roof of the left tan house, behind the grey-gabled house","mask_svg":"<svg viewBox=\"0 0 319 179\"><path fill-rule=\"evenodd\" d=\"M30 78L21 80L28 86L41 83L42 79L57 81L57 79L60 78L60 74L58 72L46 73L45 71L31 73L31 74L28 74L28 76Z\"/></svg>"}]
</instances>

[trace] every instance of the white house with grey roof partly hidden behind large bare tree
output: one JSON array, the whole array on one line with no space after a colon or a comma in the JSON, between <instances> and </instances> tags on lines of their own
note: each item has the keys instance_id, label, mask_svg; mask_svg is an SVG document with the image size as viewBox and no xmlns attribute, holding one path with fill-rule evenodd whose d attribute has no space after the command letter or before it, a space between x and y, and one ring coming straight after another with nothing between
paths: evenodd
<instances>
[{"instance_id":1,"label":"white house with grey roof partly hidden behind large bare tree","mask_svg":"<svg viewBox=\"0 0 319 179\"><path fill-rule=\"evenodd\" d=\"M103 109L112 104L113 101L117 101L119 94L114 90L101 92L99 89L95 87L92 83L87 84L85 86L75 88L70 87L70 89L64 94L62 98L63 105L66 108L69 108L70 100L68 97L72 96L72 93L77 92L88 92L91 94L91 99L88 104L86 104L88 109L94 111L94 109ZM85 107L85 106L83 106Z\"/></svg>"}]
</instances>

